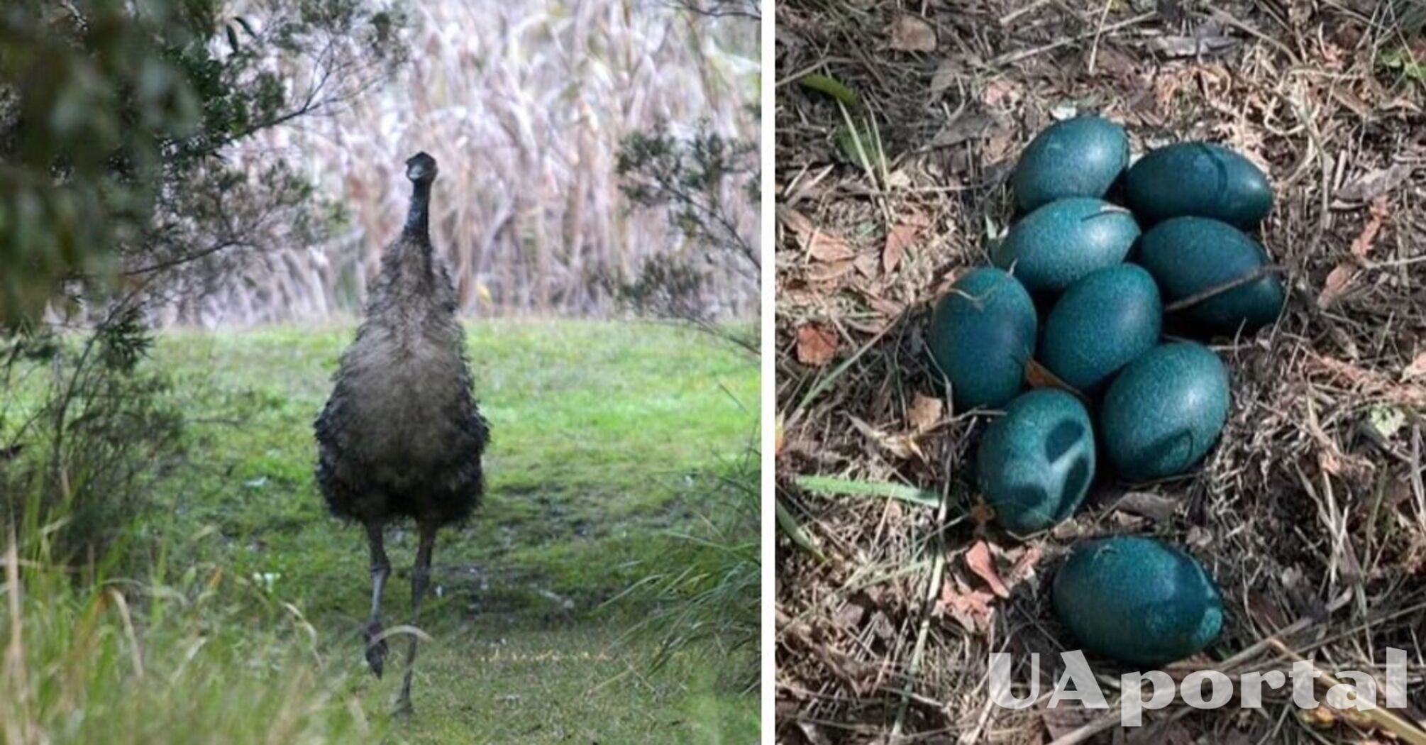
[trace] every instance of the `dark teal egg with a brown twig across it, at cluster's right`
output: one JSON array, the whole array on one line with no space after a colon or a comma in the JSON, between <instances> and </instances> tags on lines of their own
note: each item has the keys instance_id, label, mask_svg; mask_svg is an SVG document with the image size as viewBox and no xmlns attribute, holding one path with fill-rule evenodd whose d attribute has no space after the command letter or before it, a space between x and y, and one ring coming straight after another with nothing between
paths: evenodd
<instances>
[{"instance_id":1,"label":"dark teal egg with a brown twig across it, at cluster's right","mask_svg":"<svg viewBox=\"0 0 1426 745\"><path fill-rule=\"evenodd\" d=\"M1206 217L1175 217L1154 225L1139 244L1139 264L1149 270L1174 303L1246 277L1268 261L1268 253L1243 231ZM1278 320L1288 295L1273 273L1184 310L1212 334L1253 333Z\"/></svg>"}]
</instances>

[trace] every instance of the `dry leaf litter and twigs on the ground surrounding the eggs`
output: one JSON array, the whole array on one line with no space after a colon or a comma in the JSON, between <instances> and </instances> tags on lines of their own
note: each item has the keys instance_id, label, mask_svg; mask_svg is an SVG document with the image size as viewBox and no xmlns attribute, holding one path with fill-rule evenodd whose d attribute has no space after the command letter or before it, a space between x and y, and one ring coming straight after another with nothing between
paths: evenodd
<instances>
[{"instance_id":1,"label":"dry leaf litter and twigs on the ground surrounding the eggs","mask_svg":"<svg viewBox=\"0 0 1426 745\"><path fill-rule=\"evenodd\" d=\"M1137 731L1044 698L995 706L991 652L1024 682L1031 652L1054 679L1072 648L1047 584L1068 548L1131 532L1185 547L1224 592L1222 637L1175 676L1299 655L1382 675L1395 647L1412 659L1399 714L1426 722L1426 41L1410 9L779 4L779 742L1393 736L1286 691L1259 709L1175 704ZM1289 301L1275 325L1212 341L1232 408L1199 468L1099 484L1074 520L1011 537L974 487L990 417L950 410L925 321L988 263L1025 143L1079 111L1122 123L1135 153L1201 138L1262 167L1276 204L1261 238Z\"/></svg>"}]
</instances>

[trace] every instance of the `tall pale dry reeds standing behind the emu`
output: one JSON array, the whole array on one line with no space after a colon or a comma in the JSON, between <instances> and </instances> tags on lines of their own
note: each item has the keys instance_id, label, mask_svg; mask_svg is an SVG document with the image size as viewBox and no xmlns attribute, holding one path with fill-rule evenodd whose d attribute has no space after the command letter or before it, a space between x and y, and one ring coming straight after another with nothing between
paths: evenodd
<instances>
[{"instance_id":1,"label":"tall pale dry reeds standing behind the emu","mask_svg":"<svg viewBox=\"0 0 1426 745\"><path fill-rule=\"evenodd\" d=\"M399 231L404 160L441 164L434 241L476 314L602 315L603 277L686 250L665 214L630 213L613 173L620 138L666 120L756 140L757 23L660 0L412 3L411 63L331 116L265 133L232 157L279 153L335 198L344 228L319 247L255 251L167 323L247 324L356 311ZM302 71L294 71L301 77ZM756 206L732 194L757 238ZM724 317L757 287L713 267Z\"/></svg>"}]
</instances>

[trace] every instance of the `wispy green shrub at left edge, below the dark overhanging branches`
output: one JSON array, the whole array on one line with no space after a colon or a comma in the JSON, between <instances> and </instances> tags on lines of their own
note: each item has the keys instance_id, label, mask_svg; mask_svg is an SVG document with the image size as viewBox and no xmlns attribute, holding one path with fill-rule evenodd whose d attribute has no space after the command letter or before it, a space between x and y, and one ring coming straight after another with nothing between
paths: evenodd
<instances>
[{"instance_id":1,"label":"wispy green shrub at left edge, below the dark overhanging branches","mask_svg":"<svg viewBox=\"0 0 1426 745\"><path fill-rule=\"evenodd\" d=\"M137 313L137 311L135 311ZM141 370L151 337L134 313L87 338L53 333L0 341L0 525L53 525L61 562L107 555L147 507L183 415L161 374ZM4 412L19 412L7 421Z\"/></svg>"}]
</instances>

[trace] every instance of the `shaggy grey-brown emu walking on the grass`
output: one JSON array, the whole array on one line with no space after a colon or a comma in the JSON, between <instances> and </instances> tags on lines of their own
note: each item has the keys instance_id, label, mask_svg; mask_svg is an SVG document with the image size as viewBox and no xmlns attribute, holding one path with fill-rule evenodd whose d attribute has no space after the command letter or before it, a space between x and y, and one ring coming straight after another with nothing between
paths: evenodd
<instances>
[{"instance_id":1,"label":"shaggy grey-brown emu walking on the grass","mask_svg":"<svg viewBox=\"0 0 1426 745\"><path fill-rule=\"evenodd\" d=\"M317 484L328 510L361 522L371 545L371 615L366 662L381 676L386 641L381 597L391 575L382 538L402 518L416 524L419 545L411 574L412 625L431 579L436 531L479 505L481 454L489 428L471 395L465 335L456 295L431 247L431 184L436 161L406 161L411 208L401 237L386 247L371 287L366 317L342 353L334 390L317 417ZM411 637L396 714L411 714Z\"/></svg>"}]
</instances>

